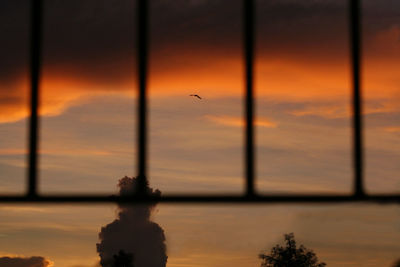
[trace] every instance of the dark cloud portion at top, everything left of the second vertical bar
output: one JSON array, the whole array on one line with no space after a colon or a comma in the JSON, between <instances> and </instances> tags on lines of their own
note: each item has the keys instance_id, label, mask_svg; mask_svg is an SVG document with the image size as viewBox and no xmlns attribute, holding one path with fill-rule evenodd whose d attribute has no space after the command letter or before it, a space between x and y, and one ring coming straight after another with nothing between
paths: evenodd
<instances>
[{"instance_id":1,"label":"dark cloud portion at top, everything left of the second vertical bar","mask_svg":"<svg viewBox=\"0 0 400 267\"><path fill-rule=\"evenodd\" d=\"M0 3L0 81L20 78L29 64L29 3ZM45 1L43 23L44 75L107 82L133 73L134 1Z\"/></svg>"}]
</instances>

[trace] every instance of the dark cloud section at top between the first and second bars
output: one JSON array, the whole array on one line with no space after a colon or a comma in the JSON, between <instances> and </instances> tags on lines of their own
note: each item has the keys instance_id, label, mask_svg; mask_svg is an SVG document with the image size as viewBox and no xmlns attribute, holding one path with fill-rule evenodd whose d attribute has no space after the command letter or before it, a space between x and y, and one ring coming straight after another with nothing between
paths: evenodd
<instances>
[{"instance_id":1,"label":"dark cloud section at top between the first and second bars","mask_svg":"<svg viewBox=\"0 0 400 267\"><path fill-rule=\"evenodd\" d=\"M47 1L44 63L100 82L134 73L135 1ZM55 69L54 69L55 68Z\"/></svg>"}]
</instances>

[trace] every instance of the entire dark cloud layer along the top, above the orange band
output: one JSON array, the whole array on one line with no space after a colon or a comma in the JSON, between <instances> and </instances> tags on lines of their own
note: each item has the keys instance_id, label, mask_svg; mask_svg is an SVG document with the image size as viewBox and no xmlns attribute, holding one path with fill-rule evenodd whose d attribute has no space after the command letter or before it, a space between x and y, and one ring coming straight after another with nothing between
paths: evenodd
<instances>
[{"instance_id":1,"label":"entire dark cloud layer along the top, above the orange band","mask_svg":"<svg viewBox=\"0 0 400 267\"><path fill-rule=\"evenodd\" d=\"M48 74L101 82L134 73L136 1L45 1L44 63ZM364 1L365 32L398 24L400 2ZM0 3L0 81L21 74L28 62L29 1ZM343 53L347 1L257 1L257 38L270 55ZM160 64L177 53L241 56L242 1L151 1L152 54ZM367 38L368 39L368 38ZM179 51L178 51L179 49ZM178 51L178 52L177 52ZM325 53L324 52L324 53ZM154 63L155 64L155 63Z\"/></svg>"}]
</instances>

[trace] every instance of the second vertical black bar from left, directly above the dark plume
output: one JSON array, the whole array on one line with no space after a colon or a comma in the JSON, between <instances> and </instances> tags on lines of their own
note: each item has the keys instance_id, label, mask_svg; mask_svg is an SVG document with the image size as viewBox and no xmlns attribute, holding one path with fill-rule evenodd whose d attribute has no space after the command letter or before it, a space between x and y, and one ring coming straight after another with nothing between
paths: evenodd
<instances>
[{"instance_id":1,"label":"second vertical black bar from left, directly above the dark plume","mask_svg":"<svg viewBox=\"0 0 400 267\"><path fill-rule=\"evenodd\" d=\"M138 193L145 193L147 184L147 57L148 57L148 2L137 0L138 16Z\"/></svg>"}]
</instances>

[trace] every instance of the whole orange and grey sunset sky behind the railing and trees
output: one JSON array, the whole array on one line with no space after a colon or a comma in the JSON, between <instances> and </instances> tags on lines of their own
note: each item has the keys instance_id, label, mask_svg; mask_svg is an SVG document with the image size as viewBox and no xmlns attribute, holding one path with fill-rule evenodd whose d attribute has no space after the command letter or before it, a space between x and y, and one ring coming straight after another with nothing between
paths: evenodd
<instances>
[{"instance_id":1,"label":"whole orange and grey sunset sky behind the railing and trees","mask_svg":"<svg viewBox=\"0 0 400 267\"><path fill-rule=\"evenodd\" d=\"M168 193L242 193L242 1L150 1L149 180ZM362 87L370 193L400 191L400 2L364 0ZM349 193L347 1L256 1L256 186ZM135 6L47 0L40 192L117 192L136 172ZM0 194L25 190L29 1L0 1ZM189 97L199 94L203 99ZM0 205L1 257L94 267L113 205ZM396 205L158 205L168 267L259 266L294 232L328 266L400 258ZM1 261L0 261L1 262ZM30 267L30 266L29 266Z\"/></svg>"}]
</instances>

